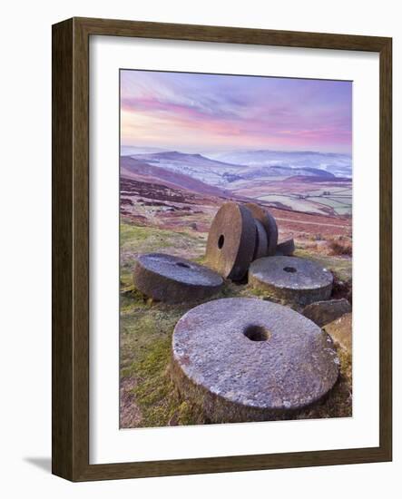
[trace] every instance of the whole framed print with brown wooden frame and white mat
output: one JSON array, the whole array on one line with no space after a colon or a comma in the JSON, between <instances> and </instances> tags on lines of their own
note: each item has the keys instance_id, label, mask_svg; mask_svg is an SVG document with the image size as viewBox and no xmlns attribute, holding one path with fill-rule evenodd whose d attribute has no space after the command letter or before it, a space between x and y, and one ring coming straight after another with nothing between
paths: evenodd
<instances>
[{"instance_id":1,"label":"whole framed print with brown wooden frame and white mat","mask_svg":"<svg viewBox=\"0 0 402 499\"><path fill-rule=\"evenodd\" d=\"M54 24L55 475L391 460L391 47Z\"/></svg>"}]
</instances>

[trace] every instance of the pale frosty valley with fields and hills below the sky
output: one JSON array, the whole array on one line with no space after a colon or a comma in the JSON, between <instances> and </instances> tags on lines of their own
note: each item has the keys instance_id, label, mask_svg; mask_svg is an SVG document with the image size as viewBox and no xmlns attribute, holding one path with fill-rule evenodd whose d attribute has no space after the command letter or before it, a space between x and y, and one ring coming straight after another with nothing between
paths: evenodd
<instances>
[{"instance_id":1,"label":"pale frosty valley with fields and hills below the sky","mask_svg":"<svg viewBox=\"0 0 402 499\"><path fill-rule=\"evenodd\" d=\"M249 152L227 154L222 159L244 162L151 152L122 156L121 173L144 181L159 179L219 198L254 199L271 208L351 217L351 165L345 155Z\"/></svg>"}]
</instances>

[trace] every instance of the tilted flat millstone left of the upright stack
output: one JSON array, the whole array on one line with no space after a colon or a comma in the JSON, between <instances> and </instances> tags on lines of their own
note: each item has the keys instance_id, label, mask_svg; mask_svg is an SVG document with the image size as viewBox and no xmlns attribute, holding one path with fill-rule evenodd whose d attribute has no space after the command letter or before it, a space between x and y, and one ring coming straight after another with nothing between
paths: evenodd
<instances>
[{"instance_id":1,"label":"tilted flat millstone left of the upright stack","mask_svg":"<svg viewBox=\"0 0 402 499\"><path fill-rule=\"evenodd\" d=\"M168 303L211 297L223 284L221 276L213 270L162 253L138 257L132 280L144 295Z\"/></svg>"}]
</instances>

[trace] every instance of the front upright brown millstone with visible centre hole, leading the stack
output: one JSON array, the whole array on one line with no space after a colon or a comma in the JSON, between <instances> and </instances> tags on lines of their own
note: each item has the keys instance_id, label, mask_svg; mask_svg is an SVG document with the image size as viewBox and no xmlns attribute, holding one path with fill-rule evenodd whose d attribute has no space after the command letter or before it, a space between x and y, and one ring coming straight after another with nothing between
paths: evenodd
<instances>
[{"instance_id":1,"label":"front upright brown millstone with visible centre hole, leading the stack","mask_svg":"<svg viewBox=\"0 0 402 499\"><path fill-rule=\"evenodd\" d=\"M206 262L224 278L240 280L249 269L256 243L256 225L250 210L227 202L212 220Z\"/></svg>"}]
</instances>

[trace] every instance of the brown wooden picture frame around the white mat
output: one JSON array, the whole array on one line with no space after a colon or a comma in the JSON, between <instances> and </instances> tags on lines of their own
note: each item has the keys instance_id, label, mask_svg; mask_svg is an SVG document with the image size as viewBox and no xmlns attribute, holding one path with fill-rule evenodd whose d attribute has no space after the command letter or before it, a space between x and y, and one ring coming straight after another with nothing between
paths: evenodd
<instances>
[{"instance_id":1,"label":"brown wooden picture frame around the white mat","mask_svg":"<svg viewBox=\"0 0 402 499\"><path fill-rule=\"evenodd\" d=\"M89 464L89 37L368 51L380 60L379 446ZM341 465L392 459L392 40L73 18L53 26L53 473L72 481Z\"/></svg>"}]
</instances>

